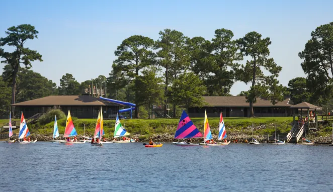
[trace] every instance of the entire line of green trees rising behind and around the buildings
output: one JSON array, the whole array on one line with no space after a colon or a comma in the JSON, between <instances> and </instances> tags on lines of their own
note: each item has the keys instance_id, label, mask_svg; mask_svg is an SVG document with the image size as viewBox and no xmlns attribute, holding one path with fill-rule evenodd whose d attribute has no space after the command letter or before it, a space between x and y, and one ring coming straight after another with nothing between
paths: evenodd
<instances>
[{"instance_id":1,"label":"entire line of green trees rising behind and around the buildings","mask_svg":"<svg viewBox=\"0 0 333 192\"><path fill-rule=\"evenodd\" d=\"M9 28L7 36L0 38L0 56L5 63L0 78L3 113L15 102L52 94L80 94L81 89L91 84L91 80L78 83L67 73L56 87L51 80L29 70L32 61L43 61L37 51L24 46L37 34L35 27L19 25ZM133 35L117 47L117 59L109 76L100 75L94 81L107 80L107 97L135 103L138 107L134 117L139 116L139 111L141 117L149 113L146 111L152 105L171 106L172 116L176 117L179 106L205 105L203 95L230 95L236 81L251 84L249 90L239 93L249 103L251 116L257 98L276 104L290 95L295 104L306 101L325 106L333 95L332 39L333 23L321 25L311 33L311 39L299 53L307 76L291 79L288 87L277 80L282 67L270 57L269 37L249 32L235 39L228 29L215 30L211 40L190 38L171 29L160 31L157 40ZM6 52L4 46L16 49Z\"/></svg>"}]
</instances>

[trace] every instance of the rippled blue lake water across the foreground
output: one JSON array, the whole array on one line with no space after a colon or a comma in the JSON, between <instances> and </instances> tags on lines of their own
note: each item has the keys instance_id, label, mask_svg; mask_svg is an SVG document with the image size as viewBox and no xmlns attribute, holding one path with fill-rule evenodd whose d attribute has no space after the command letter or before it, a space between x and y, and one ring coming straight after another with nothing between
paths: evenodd
<instances>
[{"instance_id":1,"label":"rippled blue lake water across the foreground","mask_svg":"<svg viewBox=\"0 0 333 192\"><path fill-rule=\"evenodd\" d=\"M0 143L1 191L332 191L333 147Z\"/></svg>"}]
</instances>

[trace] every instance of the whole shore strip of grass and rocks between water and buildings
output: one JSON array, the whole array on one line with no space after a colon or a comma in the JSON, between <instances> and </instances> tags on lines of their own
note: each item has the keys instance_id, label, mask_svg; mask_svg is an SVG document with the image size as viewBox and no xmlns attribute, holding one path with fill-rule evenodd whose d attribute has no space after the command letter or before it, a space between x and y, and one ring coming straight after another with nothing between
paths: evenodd
<instances>
[{"instance_id":1,"label":"whole shore strip of grass and rocks between water and buildings","mask_svg":"<svg viewBox=\"0 0 333 192\"><path fill-rule=\"evenodd\" d=\"M203 132L204 118L191 118L197 128ZM276 138L285 140L286 135L289 133L292 127L292 117L263 117L263 118L224 118L224 123L227 132L227 140L243 142L244 140L252 139L252 125L254 125L254 138L259 142L266 142L269 136L269 142L273 142L275 139L275 125L277 126ZM1 120L5 121L5 120ZM7 120L8 121L8 120ZM60 138L64 139L62 133L65 129L66 119L57 120ZM96 119L76 119L73 118L75 129L79 136L86 135L88 137L93 136L96 126ZM113 139L115 120L104 120L105 137L111 141ZM147 141L152 138L157 142L171 142L174 140L174 134L176 132L179 119L127 119L121 120L124 128L131 133L129 138L140 141ZM209 118L209 124L211 127L213 139L217 140L219 118ZM332 128L327 126L319 126L318 131L310 132L310 140L315 142L332 142ZM47 124L28 124L28 128L31 133L31 139L38 139L38 141L52 140L54 122ZM85 129L84 129L85 127ZM14 134L18 134L19 129L13 130ZM6 134L5 132L3 134ZM12 137L17 138L17 136ZM78 139L83 139L78 137ZM201 141L202 138L193 139L193 142Z\"/></svg>"}]
</instances>

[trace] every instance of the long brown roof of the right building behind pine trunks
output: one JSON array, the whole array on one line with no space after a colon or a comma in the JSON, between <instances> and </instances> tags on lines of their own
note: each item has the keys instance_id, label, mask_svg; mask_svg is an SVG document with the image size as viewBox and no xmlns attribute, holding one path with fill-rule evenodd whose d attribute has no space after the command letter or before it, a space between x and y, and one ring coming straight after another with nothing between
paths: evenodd
<instances>
[{"instance_id":1,"label":"long brown roof of the right building behind pine trunks","mask_svg":"<svg viewBox=\"0 0 333 192\"><path fill-rule=\"evenodd\" d=\"M203 96L204 100L214 107L248 107L245 96ZM282 102L273 105L270 100L257 98L254 107L291 107L292 101L286 98ZM206 106L208 107L208 106Z\"/></svg>"}]
</instances>

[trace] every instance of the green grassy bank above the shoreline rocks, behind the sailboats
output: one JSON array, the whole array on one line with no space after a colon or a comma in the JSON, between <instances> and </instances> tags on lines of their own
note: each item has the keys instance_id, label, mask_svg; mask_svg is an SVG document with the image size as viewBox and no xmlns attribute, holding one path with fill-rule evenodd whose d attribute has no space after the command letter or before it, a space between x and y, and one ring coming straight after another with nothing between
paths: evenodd
<instances>
[{"instance_id":1,"label":"green grassy bank above the shoreline rocks, behind the sailboats","mask_svg":"<svg viewBox=\"0 0 333 192\"><path fill-rule=\"evenodd\" d=\"M203 118L191 118L193 123L198 127L198 129L203 132ZM64 132L65 119L60 119L57 121L59 133ZM212 130L212 134L218 134L218 124L219 118L209 118L209 125ZM121 124L125 129L132 135L140 134L142 138L149 137L153 134L169 133L174 134L179 119L128 119L121 120ZM224 123L226 126L228 135L236 134L252 134L252 124L255 126L256 135L273 135L275 133L275 124L277 125L277 134L286 135L290 129L292 122L292 117L281 117L281 118L224 118ZM96 126L96 119L75 119L74 126L79 135L84 134L93 135ZM113 137L115 120L104 120L104 130L105 136L107 138ZM32 134L41 134L46 136L51 136L53 133L53 122L46 125L29 125L29 130ZM18 133L15 130L14 133Z\"/></svg>"}]
</instances>

